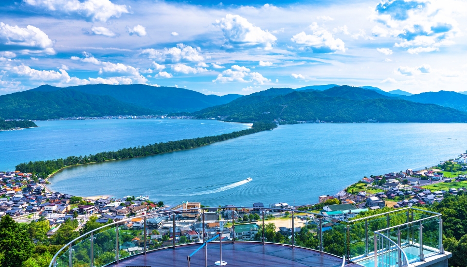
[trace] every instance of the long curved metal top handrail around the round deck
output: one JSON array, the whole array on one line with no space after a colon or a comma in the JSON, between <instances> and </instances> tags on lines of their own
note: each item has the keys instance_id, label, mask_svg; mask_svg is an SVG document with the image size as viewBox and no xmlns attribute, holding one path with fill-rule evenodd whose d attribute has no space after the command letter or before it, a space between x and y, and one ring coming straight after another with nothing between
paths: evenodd
<instances>
[{"instance_id":1,"label":"long curved metal top handrail around the round deck","mask_svg":"<svg viewBox=\"0 0 467 267\"><path fill-rule=\"evenodd\" d=\"M118 225L118 224L123 224L123 222L126 222L127 220L131 220L131 219L135 219L135 218L144 218L144 217L151 217L151 216L156 216L156 215L170 215L170 214L174 214L174 213L181 213L181 212L184 212L184 211L199 211L199 210L207 210L209 208L217 208L217 209L226 209L226 210L230 210L230 209L238 209L238 208L245 208L245 209L263 209L263 210L275 210L275 211L284 211L284 212L294 212L294 213L306 213L306 214L310 214L310 215L313 215L313 216L316 216L316 217L321 217L321 218L324 218L324 217L327 217L327 218L330 218L330 219L334 219L334 220L338 220L340 222L343 222L343 223L347 223L346 220L341 220L341 219L336 219L336 218L332 218L332 217L329 217L329 216L325 216L325 215L322 215L322 214L317 214L317 213L312 213L312 212L308 212L308 211L298 211L298 210L291 210L291 209L282 209L282 208L269 208L269 207L206 207L206 208L191 208L191 209L177 209L177 210L170 210L170 211L156 211L156 212L153 212L153 213L149 213L149 214L144 214L144 215L139 215L139 216L135 216L135 217L129 217L129 218L124 218L122 220L119 220L119 221L116 221L116 222L112 222L112 223L109 223L109 224L106 224L104 226L101 226L99 228L96 228L88 233L85 233L85 234L82 234L78 237L76 237L75 239L73 239L72 241L68 242L66 245L64 245L60 250L57 251L57 253L55 253L54 257L52 258L50 264L49 264L49 267L52 267L52 265L54 264L54 262L56 261L56 258L58 256L58 254L60 254L60 252L62 252L62 250L64 250L66 247L70 246L70 244L72 244L73 242L81 239L82 237L88 235L88 234L91 234L91 233L94 233L96 231L99 231L103 228L106 228L106 227L109 227L111 225Z\"/></svg>"}]
</instances>

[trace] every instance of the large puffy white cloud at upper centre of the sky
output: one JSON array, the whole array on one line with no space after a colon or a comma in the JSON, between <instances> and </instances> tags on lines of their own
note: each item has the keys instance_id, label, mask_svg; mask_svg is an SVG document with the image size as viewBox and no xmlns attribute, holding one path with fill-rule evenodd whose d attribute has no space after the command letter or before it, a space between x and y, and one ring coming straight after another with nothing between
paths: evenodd
<instances>
[{"instance_id":1,"label":"large puffy white cloud at upper centre of the sky","mask_svg":"<svg viewBox=\"0 0 467 267\"><path fill-rule=\"evenodd\" d=\"M261 30L239 15L227 14L220 20L216 19L214 25L222 30L225 43L231 47L263 47L271 50L277 40L272 33Z\"/></svg>"}]
</instances>

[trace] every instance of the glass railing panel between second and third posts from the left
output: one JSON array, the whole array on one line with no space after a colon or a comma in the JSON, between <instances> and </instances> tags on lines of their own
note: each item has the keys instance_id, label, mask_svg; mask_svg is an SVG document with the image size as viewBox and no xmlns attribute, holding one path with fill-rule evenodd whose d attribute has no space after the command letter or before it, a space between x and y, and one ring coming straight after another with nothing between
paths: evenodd
<instances>
[{"instance_id":1,"label":"glass railing panel between second and third posts from the left","mask_svg":"<svg viewBox=\"0 0 467 267\"><path fill-rule=\"evenodd\" d=\"M117 260L116 227L93 235L94 266L101 267Z\"/></svg>"}]
</instances>

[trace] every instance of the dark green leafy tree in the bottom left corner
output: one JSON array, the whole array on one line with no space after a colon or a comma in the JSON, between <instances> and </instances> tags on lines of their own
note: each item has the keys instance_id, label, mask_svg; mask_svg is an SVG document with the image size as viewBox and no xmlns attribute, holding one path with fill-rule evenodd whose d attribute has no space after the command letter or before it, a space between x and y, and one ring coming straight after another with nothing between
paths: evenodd
<instances>
[{"instance_id":1,"label":"dark green leafy tree in the bottom left corner","mask_svg":"<svg viewBox=\"0 0 467 267\"><path fill-rule=\"evenodd\" d=\"M27 225L20 225L10 216L0 219L0 251L2 259L0 267L21 267L33 253Z\"/></svg>"}]
</instances>

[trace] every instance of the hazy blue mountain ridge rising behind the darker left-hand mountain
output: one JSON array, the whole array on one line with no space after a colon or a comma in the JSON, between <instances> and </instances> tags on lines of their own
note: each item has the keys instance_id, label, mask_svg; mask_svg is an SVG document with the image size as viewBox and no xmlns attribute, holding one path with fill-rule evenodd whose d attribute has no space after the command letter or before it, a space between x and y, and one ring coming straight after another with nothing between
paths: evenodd
<instances>
[{"instance_id":1,"label":"hazy blue mountain ridge rising behind the darker left-hand mountain","mask_svg":"<svg viewBox=\"0 0 467 267\"><path fill-rule=\"evenodd\" d=\"M162 111L193 112L203 108L226 104L242 95L229 94L222 97L204 95L192 90L176 87L156 87L146 84L88 84L66 87L82 93L100 96L110 96L116 100L136 106ZM42 85L30 91L56 91L60 87Z\"/></svg>"}]
</instances>

